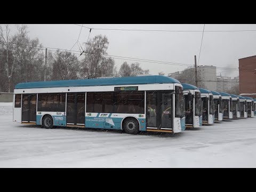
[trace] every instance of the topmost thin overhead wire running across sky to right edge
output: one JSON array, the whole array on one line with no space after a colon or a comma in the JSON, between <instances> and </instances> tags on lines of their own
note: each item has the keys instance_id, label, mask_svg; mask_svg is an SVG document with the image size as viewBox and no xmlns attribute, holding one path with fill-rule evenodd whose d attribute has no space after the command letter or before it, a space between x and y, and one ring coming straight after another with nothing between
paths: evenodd
<instances>
[{"instance_id":1,"label":"topmost thin overhead wire running across sky to right edge","mask_svg":"<svg viewBox=\"0 0 256 192\"><path fill-rule=\"evenodd\" d=\"M74 24L77 26L81 26L78 24ZM94 30L120 30L120 31L153 31L153 32L203 32L202 30L149 30L149 29L110 29L110 28L91 28L85 27L87 29L94 29ZM205 30L204 32L249 32L249 31L256 31L256 30Z\"/></svg>"}]
</instances>

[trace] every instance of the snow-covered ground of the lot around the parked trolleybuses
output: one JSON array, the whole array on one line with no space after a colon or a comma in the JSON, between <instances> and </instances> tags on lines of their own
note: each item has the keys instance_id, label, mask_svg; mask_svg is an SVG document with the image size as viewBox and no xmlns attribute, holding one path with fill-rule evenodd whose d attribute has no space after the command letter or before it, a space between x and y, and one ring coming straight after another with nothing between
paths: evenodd
<instances>
[{"instance_id":1,"label":"snow-covered ground of the lot around the parked trolleybuses","mask_svg":"<svg viewBox=\"0 0 256 192\"><path fill-rule=\"evenodd\" d=\"M0 167L256 167L256 118L178 134L42 129L0 103Z\"/></svg>"}]
</instances>

